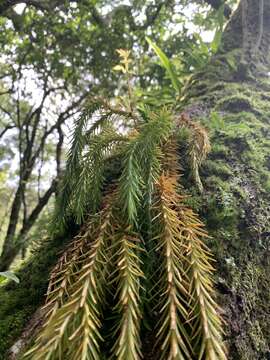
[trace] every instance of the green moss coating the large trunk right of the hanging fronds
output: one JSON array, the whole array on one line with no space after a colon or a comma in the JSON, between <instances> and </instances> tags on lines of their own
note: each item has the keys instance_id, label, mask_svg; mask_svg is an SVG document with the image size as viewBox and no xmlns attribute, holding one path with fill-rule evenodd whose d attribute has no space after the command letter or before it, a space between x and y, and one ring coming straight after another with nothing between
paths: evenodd
<instances>
[{"instance_id":1,"label":"green moss coating the large trunk right of the hanging fronds","mask_svg":"<svg viewBox=\"0 0 270 360\"><path fill-rule=\"evenodd\" d=\"M202 196L192 192L189 204L204 218L212 236L208 245L217 259L229 358L266 360L270 359L270 80L249 76L245 83L237 83L232 68L235 73L239 70L234 61L239 54L232 55L224 72L220 64L226 60L221 56L190 86L189 108L196 97L194 107L203 109L198 119L209 129L212 152L200 171L205 192ZM188 182L185 185L189 187Z\"/></svg>"}]
</instances>

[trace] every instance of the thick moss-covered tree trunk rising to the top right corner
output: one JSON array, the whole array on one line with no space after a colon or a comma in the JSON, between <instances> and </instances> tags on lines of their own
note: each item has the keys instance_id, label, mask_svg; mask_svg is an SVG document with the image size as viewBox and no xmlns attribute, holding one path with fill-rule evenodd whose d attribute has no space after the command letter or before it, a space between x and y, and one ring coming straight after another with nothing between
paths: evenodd
<instances>
[{"instance_id":1,"label":"thick moss-covered tree trunk rising to the top right corner","mask_svg":"<svg viewBox=\"0 0 270 360\"><path fill-rule=\"evenodd\" d=\"M219 54L192 78L186 92L185 112L203 122L211 137L212 152L201 174L204 192L194 196L193 206L212 235L209 245L218 259L217 289L232 360L270 359L269 19L269 0L242 0ZM47 278L44 267L34 270ZM33 302L30 295L25 308ZM16 296L14 287L11 296ZM40 292L38 299L34 296L37 307L43 298ZM7 330L1 336L10 344L11 309L4 310ZM28 318L29 311L19 327ZM6 348L5 343L1 353Z\"/></svg>"}]
</instances>

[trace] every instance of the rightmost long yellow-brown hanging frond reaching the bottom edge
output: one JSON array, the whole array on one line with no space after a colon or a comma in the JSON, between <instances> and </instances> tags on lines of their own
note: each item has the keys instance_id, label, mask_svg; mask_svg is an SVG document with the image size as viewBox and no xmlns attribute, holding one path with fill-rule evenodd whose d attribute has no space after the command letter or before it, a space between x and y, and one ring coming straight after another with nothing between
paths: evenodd
<instances>
[{"instance_id":1,"label":"rightmost long yellow-brown hanging frond reaching the bottom edge","mask_svg":"<svg viewBox=\"0 0 270 360\"><path fill-rule=\"evenodd\" d=\"M190 264L188 273L193 347L198 360L226 360L222 343L223 321L219 314L221 309L215 300L212 280L212 254L202 241L208 235L191 209L180 206L179 218L183 222L183 236L188 246L186 256Z\"/></svg>"}]
</instances>

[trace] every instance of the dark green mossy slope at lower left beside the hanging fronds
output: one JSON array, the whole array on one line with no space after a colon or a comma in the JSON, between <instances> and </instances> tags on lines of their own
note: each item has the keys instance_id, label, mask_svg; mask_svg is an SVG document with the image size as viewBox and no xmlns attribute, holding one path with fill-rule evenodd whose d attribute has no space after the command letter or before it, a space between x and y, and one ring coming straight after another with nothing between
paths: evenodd
<instances>
[{"instance_id":1,"label":"dark green mossy slope at lower left beside the hanging fronds","mask_svg":"<svg viewBox=\"0 0 270 360\"><path fill-rule=\"evenodd\" d=\"M58 237L44 243L16 274L20 283L0 287L0 359L7 359L7 350L21 334L34 311L43 303L49 272L59 251L72 236Z\"/></svg>"}]
</instances>

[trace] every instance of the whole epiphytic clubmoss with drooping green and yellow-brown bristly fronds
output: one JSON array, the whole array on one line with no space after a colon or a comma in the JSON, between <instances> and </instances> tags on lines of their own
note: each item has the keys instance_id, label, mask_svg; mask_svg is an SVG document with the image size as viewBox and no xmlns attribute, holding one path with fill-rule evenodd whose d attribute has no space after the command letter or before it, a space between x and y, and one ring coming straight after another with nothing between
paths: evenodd
<instances>
[{"instance_id":1,"label":"whole epiphytic clubmoss with drooping green and yellow-brown bristly fronds","mask_svg":"<svg viewBox=\"0 0 270 360\"><path fill-rule=\"evenodd\" d=\"M186 155L176 141L183 128L191 133ZM52 272L44 325L25 358L143 358L143 302L151 293L158 359L226 359L208 235L179 184L179 157L189 157L198 182L208 151L206 131L169 109L137 111L103 99L86 105L56 211L58 223L72 216L83 225ZM120 176L104 191L105 163L115 154ZM102 346L108 334L111 350Z\"/></svg>"}]
</instances>

